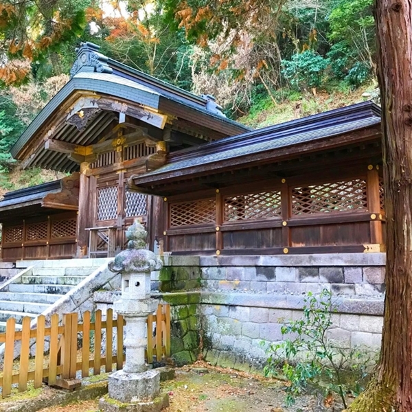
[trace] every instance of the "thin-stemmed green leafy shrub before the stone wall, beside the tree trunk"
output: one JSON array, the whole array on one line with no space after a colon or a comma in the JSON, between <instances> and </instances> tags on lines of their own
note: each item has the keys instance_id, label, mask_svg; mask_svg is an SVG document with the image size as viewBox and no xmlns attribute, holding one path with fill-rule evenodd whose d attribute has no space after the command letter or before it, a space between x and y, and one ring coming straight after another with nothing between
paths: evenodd
<instances>
[{"instance_id":1,"label":"thin-stemmed green leafy shrub before the stone wall, beside the tree trunk","mask_svg":"<svg viewBox=\"0 0 412 412\"><path fill-rule=\"evenodd\" d=\"M347 395L358 396L376 363L376 353L367 348L345 348L328 339L332 328L332 293L323 289L318 296L304 298L301 319L284 321L281 343L266 348L266 376L286 378L286 404L295 403L301 393L324 398L336 393L347 408ZM262 343L264 345L264 343Z\"/></svg>"}]
</instances>

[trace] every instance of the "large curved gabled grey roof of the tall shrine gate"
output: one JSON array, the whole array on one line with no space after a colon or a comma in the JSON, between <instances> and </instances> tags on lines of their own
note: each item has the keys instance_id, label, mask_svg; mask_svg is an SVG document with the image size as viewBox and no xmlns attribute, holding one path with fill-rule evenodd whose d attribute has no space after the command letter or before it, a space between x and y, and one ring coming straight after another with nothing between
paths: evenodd
<instances>
[{"instance_id":1,"label":"large curved gabled grey roof of the tall shrine gate","mask_svg":"<svg viewBox=\"0 0 412 412\"><path fill-rule=\"evenodd\" d=\"M220 111L220 106L214 103L213 98L194 95L179 89L179 87L107 58L98 50L99 47L93 43L82 43L78 49L77 60L71 69L71 80L50 100L14 144L11 150L13 157L19 158L21 156L25 146L41 130L47 119L51 118L75 91L91 91L111 95L114 98L129 100L160 111L162 102L173 102L187 108L185 110L195 113L192 114L192 117L206 116L209 124L213 125L216 130L226 130L222 132L223 135L233 135L250 130L247 126L227 119ZM69 130L67 132L69 133ZM80 133L77 135L84 144L84 136ZM77 141L71 141L71 143L78 144ZM33 164L43 168L67 172L78 169L78 165L63 154L42 152L32 156Z\"/></svg>"}]
</instances>

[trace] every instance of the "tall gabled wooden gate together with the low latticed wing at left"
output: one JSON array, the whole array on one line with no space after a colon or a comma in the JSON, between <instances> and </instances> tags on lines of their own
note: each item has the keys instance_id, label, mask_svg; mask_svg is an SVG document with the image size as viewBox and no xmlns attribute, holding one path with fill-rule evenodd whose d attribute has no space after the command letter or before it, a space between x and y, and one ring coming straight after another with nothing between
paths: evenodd
<instances>
[{"instance_id":1,"label":"tall gabled wooden gate together with the low latticed wing at left","mask_svg":"<svg viewBox=\"0 0 412 412\"><path fill-rule=\"evenodd\" d=\"M77 192L66 188L59 205L49 198L61 182L6 194L2 260L113 256L124 249L133 218L146 222L153 245L163 233L163 224L157 226L163 201L130 190L130 176L159 168L169 152L247 130L227 119L211 96L152 78L83 43L69 82L12 148L23 168L73 174L62 181L77 179ZM56 219L70 222L64 232Z\"/></svg>"}]
</instances>

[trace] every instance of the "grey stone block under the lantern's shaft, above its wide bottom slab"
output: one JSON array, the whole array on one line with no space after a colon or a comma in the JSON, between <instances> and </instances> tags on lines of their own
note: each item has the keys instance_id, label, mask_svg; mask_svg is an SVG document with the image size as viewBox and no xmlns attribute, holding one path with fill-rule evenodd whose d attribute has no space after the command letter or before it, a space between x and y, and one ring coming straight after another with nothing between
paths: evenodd
<instances>
[{"instance_id":1,"label":"grey stone block under the lantern's shaft, above its wide bottom slab","mask_svg":"<svg viewBox=\"0 0 412 412\"><path fill-rule=\"evenodd\" d=\"M160 374L153 369L137 374L119 370L108 377L108 396L119 402L152 400L159 392Z\"/></svg>"}]
</instances>

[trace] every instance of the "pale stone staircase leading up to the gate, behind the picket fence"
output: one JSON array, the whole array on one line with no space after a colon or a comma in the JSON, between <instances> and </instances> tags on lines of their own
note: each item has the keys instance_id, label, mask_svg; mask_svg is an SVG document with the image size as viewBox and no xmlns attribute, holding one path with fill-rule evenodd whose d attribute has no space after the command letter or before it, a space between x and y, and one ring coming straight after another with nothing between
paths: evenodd
<instances>
[{"instance_id":1,"label":"pale stone staircase leading up to the gate, behind the picket fence","mask_svg":"<svg viewBox=\"0 0 412 412\"><path fill-rule=\"evenodd\" d=\"M36 260L16 262L19 273L0 286L0 332L10 317L21 329L23 317L34 319L65 297L106 259Z\"/></svg>"}]
</instances>

